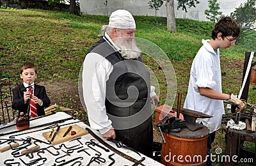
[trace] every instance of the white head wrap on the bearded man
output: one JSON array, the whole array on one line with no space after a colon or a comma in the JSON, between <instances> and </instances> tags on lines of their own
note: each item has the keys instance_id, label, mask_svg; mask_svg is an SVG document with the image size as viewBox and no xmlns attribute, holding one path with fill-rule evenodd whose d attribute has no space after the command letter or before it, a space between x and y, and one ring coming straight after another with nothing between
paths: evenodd
<instances>
[{"instance_id":1,"label":"white head wrap on the bearded man","mask_svg":"<svg viewBox=\"0 0 256 166\"><path fill-rule=\"evenodd\" d=\"M134 29L136 28L135 20L131 13L127 10L116 10L111 13L109 17L109 26L120 29Z\"/></svg>"}]
</instances>

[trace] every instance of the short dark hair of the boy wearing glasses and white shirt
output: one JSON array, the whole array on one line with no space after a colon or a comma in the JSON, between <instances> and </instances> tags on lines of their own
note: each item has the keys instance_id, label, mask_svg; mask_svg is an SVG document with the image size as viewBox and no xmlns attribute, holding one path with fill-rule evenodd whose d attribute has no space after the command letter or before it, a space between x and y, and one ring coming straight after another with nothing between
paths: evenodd
<instances>
[{"instance_id":1,"label":"short dark hair of the boy wearing glasses and white shirt","mask_svg":"<svg viewBox=\"0 0 256 166\"><path fill-rule=\"evenodd\" d=\"M240 34L240 27L236 23L236 21L231 19L230 17L223 17L216 23L214 29L212 30L213 40L217 38L218 33L222 34L222 38L224 38L225 36L232 36L234 38L237 38Z\"/></svg>"}]
</instances>

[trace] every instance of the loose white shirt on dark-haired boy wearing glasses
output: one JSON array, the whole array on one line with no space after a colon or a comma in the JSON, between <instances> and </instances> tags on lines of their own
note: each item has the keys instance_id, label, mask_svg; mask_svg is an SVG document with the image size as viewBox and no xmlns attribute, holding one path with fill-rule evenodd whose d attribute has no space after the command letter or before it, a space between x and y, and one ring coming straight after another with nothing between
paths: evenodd
<instances>
[{"instance_id":1,"label":"loose white shirt on dark-haired boy wearing glasses","mask_svg":"<svg viewBox=\"0 0 256 166\"><path fill-rule=\"evenodd\" d=\"M202 96L198 91L198 87L209 87L222 93L220 52L218 49L214 52L207 41L209 40L202 40L204 45L198 50L191 65L188 94L184 108L212 116L211 118L196 119L197 123L202 122L212 133L220 128L222 114L225 112L222 100Z\"/></svg>"}]
</instances>

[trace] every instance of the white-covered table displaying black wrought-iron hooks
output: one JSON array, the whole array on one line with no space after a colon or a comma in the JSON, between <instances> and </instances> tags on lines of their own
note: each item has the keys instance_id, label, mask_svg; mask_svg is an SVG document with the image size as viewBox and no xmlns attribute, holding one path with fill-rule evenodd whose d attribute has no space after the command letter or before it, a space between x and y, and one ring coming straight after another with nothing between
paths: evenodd
<instances>
[{"instance_id":1,"label":"white-covered table displaying black wrought-iron hooks","mask_svg":"<svg viewBox=\"0 0 256 166\"><path fill-rule=\"evenodd\" d=\"M13 131L19 131L17 130L15 125L0 129L0 134L2 135L0 137L0 149L8 146L8 142L6 142L7 140L5 139L10 139L11 135L17 135L15 136L15 138L11 138L17 139L16 142L19 142L19 145L21 145L23 142L21 141L21 139L26 140L28 138L31 138L30 144L24 144L23 149L14 148L8 151L4 151L3 153L0 153L0 165L134 165L134 162L131 162L123 158L122 156L114 153L113 151L106 152L104 151L104 149L98 146L86 145L86 142L90 142L94 139L92 135L90 135L89 133L81 137L78 137L77 139L74 139L72 141L68 140L67 142L63 142L63 144L51 146L51 144L47 144L48 142L45 140L42 133L49 132L52 126L48 126L49 128L47 129L45 129L47 126L33 129L33 127L38 126L40 124L51 123L63 119L63 122L58 123L59 125L62 125L61 128L72 125L70 123L77 124L81 128L90 128L90 126L84 124L82 121L79 121L78 119L69 119L65 121L65 119L68 119L70 117L72 116L66 114L65 112L56 112L55 114L52 114L50 116L40 117L38 119L30 121L29 127L32 129L17 133L19 135L17 135L16 133L10 135L3 135L4 133L6 134ZM67 126L65 126L66 124ZM40 129L42 130L37 131ZM90 129L92 130L92 128ZM101 139L103 139L98 131L92 131ZM38 142L35 139L43 140L45 143ZM94 139L93 141L96 142L98 145L103 146L97 140ZM152 158L148 158L145 155L140 154L141 156L139 156L138 154L134 153L134 151L131 151L129 149L116 147L116 145L113 142L109 142L107 140L105 140L105 142L118 149L118 151L121 151L122 153L125 153L125 155L129 155L132 158L135 158L136 160L141 160L142 158L145 158L145 160L141 162L143 163L143 165L163 165L159 162L156 162ZM24 149L35 146L40 146L40 149L48 147L48 150L42 149L40 151L29 153L29 155L27 156L21 154L21 151L23 151Z\"/></svg>"}]
</instances>

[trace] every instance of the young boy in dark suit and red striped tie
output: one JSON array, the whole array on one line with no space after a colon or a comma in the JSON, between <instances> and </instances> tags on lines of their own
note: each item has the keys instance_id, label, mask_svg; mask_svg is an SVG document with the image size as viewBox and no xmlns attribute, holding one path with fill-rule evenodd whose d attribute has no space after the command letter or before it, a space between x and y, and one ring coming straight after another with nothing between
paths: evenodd
<instances>
[{"instance_id":1,"label":"young boy in dark suit and red striped tie","mask_svg":"<svg viewBox=\"0 0 256 166\"><path fill-rule=\"evenodd\" d=\"M44 107L49 107L51 101L49 100L44 86L35 85L37 77L36 66L32 63L24 63L20 68L20 78L23 79L23 84L13 89L13 103L12 108L28 113L29 103L35 105L29 112L29 117L44 116ZM31 91L29 92L29 88ZM29 99L31 100L29 102ZM34 111L35 110L35 111Z\"/></svg>"}]
</instances>

